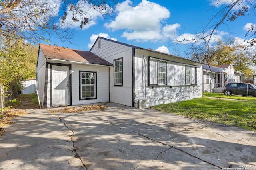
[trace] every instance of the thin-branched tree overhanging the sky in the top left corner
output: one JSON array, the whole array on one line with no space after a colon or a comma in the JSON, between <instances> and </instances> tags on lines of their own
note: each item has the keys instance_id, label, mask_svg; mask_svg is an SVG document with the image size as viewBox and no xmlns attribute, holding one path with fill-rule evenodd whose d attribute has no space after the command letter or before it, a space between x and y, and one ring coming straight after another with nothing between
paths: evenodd
<instances>
[{"instance_id":1,"label":"thin-branched tree overhanging the sky in the top left corner","mask_svg":"<svg viewBox=\"0 0 256 170\"><path fill-rule=\"evenodd\" d=\"M110 15L118 0L4 0L0 1L0 39L22 39L30 42L72 39L74 29L82 28L97 12Z\"/></svg>"}]
</instances>

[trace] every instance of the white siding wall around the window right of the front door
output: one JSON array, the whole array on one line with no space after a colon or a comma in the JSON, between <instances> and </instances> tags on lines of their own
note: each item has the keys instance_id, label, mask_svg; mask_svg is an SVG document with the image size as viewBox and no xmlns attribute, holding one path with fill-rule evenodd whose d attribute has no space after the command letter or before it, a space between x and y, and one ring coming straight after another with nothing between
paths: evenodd
<instances>
[{"instance_id":1,"label":"white siding wall around the window right of the front door","mask_svg":"<svg viewBox=\"0 0 256 170\"><path fill-rule=\"evenodd\" d=\"M71 68L72 105L109 102L109 67L72 64ZM79 100L79 71L97 72L97 99Z\"/></svg>"}]
</instances>

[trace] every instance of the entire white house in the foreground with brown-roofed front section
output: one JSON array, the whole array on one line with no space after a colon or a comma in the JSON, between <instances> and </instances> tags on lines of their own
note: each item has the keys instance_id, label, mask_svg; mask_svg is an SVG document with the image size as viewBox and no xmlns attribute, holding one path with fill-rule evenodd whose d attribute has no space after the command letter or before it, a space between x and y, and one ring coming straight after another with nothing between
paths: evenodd
<instances>
[{"instance_id":1,"label":"entire white house in the foreground with brown-roofed front section","mask_svg":"<svg viewBox=\"0 0 256 170\"><path fill-rule=\"evenodd\" d=\"M202 97L202 63L103 37L90 52L40 44L37 80L44 108L62 98L137 107L137 99L154 106Z\"/></svg>"}]
</instances>

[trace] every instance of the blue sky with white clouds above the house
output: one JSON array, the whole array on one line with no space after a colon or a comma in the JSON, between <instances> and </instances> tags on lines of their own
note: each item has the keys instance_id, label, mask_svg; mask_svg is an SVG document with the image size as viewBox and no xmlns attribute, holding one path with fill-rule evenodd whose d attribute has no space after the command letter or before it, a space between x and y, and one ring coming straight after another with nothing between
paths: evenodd
<instances>
[{"instance_id":1,"label":"blue sky with white clouds above the house","mask_svg":"<svg viewBox=\"0 0 256 170\"><path fill-rule=\"evenodd\" d=\"M168 40L180 39L180 35L193 37L197 31L202 31L210 19L223 6L212 8L218 0L126 0L116 6L114 17L102 18L93 14L92 21L76 30L71 40L62 43L58 39L51 39L51 44L57 43L73 49L89 51L98 36L114 39L123 43L142 48L151 48L170 54L186 57L186 44L172 45ZM223 0L223 4L232 0ZM246 39L246 27L256 24L254 14L242 16L233 22L226 22L218 28L216 38L236 38L243 43ZM175 53L178 51L178 53Z\"/></svg>"}]
</instances>

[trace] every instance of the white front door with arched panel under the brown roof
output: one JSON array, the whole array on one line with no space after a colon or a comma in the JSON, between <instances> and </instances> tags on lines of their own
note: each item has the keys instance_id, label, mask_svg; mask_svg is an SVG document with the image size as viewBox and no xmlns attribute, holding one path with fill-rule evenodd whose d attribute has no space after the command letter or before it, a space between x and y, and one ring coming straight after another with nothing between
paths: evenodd
<instances>
[{"instance_id":1,"label":"white front door with arched panel under the brown roof","mask_svg":"<svg viewBox=\"0 0 256 170\"><path fill-rule=\"evenodd\" d=\"M69 67L52 66L52 105L69 104Z\"/></svg>"}]
</instances>

